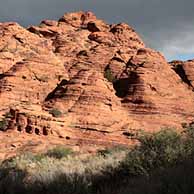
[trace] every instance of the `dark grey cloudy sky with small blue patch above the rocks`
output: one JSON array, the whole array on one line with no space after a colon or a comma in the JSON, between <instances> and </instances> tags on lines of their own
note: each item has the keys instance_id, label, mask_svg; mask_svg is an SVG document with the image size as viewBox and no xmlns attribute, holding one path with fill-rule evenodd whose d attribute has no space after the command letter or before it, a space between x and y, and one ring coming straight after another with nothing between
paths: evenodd
<instances>
[{"instance_id":1,"label":"dark grey cloudy sky with small blue patch above the rocks","mask_svg":"<svg viewBox=\"0 0 194 194\"><path fill-rule=\"evenodd\" d=\"M127 22L168 60L194 58L193 0L0 0L0 21L28 26L79 10L109 23Z\"/></svg>"}]
</instances>

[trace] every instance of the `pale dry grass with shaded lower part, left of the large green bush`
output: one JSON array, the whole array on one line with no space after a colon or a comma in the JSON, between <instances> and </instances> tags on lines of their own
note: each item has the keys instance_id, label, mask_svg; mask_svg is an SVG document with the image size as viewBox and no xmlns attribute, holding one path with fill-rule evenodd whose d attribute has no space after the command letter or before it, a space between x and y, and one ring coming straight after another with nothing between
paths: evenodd
<instances>
[{"instance_id":1,"label":"pale dry grass with shaded lower part, left of the large green bush","mask_svg":"<svg viewBox=\"0 0 194 194\"><path fill-rule=\"evenodd\" d=\"M89 193L98 177L112 173L126 156L125 150L104 155L68 155L57 159L48 155L24 154L1 165L0 193ZM2 184L3 183L3 184ZM7 187L9 185L9 187Z\"/></svg>"}]
</instances>

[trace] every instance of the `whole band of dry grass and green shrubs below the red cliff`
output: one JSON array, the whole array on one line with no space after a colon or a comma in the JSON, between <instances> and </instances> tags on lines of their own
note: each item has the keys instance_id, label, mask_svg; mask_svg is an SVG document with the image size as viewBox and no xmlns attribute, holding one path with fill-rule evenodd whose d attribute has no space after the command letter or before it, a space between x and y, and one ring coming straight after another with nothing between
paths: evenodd
<instances>
[{"instance_id":1,"label":"whole band of dry grass and green shrubs below the red cliff","mask_svg":"<svg viewBox=\"0 0 194 194\"><path fill-rule=\"evenodd\" d=\"M0 165L0 193L193 193L193 125L182 133L162 129L137 138L140 144L133 148L99 150L92 156L53 157L47 152L41 157L24 154L5 160Z\"/></svg>"}]
</instances>

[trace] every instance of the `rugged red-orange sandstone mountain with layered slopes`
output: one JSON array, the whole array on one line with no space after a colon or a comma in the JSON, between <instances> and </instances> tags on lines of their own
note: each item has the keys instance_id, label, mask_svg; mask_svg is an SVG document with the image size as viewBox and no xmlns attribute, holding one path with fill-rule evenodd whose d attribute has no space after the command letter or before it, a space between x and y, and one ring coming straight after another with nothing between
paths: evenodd
<instances>
[{"instance_id":1,"label":"rugged red-orange sandstone mountain with layered slopes","mask_svg":"<svg viewBox=\"0 0 194 194\"><path fill-rule=\"evenodd\" d=\"M28 29L1 23L0 43L1 147L19 142L2 154L29 141L39 149L129 145L139 129L193 121L193 61L167 63L125 23L91 12Z\"/></svg>"}]
</instances>

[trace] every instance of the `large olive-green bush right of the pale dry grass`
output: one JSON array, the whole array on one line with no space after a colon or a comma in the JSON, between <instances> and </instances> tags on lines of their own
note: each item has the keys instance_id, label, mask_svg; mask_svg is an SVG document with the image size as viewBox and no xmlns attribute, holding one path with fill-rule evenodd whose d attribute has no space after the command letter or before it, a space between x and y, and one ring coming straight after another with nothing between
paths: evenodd
<instances>
[{"instance_id":1,"label":"large olive-green bush right of the pale dry grass","mask_svg":"<svg viewBox=\"0 0 194 194\"><path fill-rule=\"evenodd\" d=\"M181 162L190 152L187 141L172 129L143 134L138 140L140 145L133 148L122 163L122 169L131 176L148 176L153 169L167 168Z\"/></svg>"}]
</instances>

